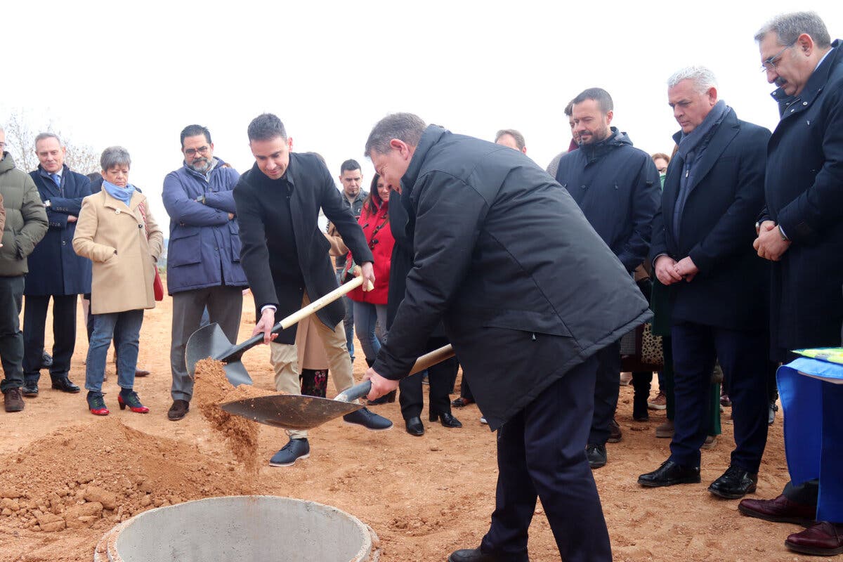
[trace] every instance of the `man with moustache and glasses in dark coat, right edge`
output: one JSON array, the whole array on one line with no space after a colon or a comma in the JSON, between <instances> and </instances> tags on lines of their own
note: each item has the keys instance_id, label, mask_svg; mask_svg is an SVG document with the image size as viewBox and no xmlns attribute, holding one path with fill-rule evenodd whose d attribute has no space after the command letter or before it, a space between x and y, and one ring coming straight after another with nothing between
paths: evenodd
<instances>
[{"instance_id":1,"label":"man with moustache and glasses in dark coat, right edge","mask_svg":"<svg viewBox=\"0 0 843 562\"><path fill-rule=\"evenodd\" d=\"M831 41L813 12L777 16L755 40L767 81L778 86L772 95L781 120L767 148L766 207L754 247L772 262L774 358L790 361L795 349L840 345L843 43ZM792 389L796 399L805 392L798 383ZM843 404L843 386L824 383L822 393L827 404ZM768 521L807 524L816 517L820 522L792 534L787 546L809 554L843 553L843 512L824 510L822 502L818 510L819 492L819 479L789 482L775 500L743 500L738 509Z\"/></svg>"}]
</instances>

